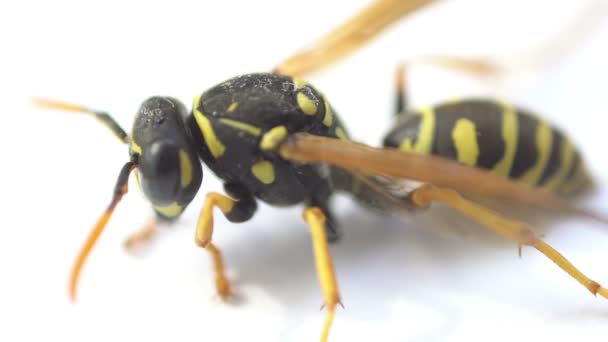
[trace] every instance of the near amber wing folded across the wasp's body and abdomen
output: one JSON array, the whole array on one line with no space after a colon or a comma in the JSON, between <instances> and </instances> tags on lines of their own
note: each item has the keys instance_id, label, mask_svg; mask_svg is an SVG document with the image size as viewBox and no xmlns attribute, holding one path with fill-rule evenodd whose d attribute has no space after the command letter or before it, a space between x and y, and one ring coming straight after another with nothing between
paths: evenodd
<instances>
[{"instance_id":1,"label":"near amber wing folded across the wasp's body and abdomen","mask_svg":"<svg viewBox=\"0 0 608 342\"><path fill-rule=\"evenodd\" d=\"M280 149L283 158L301 163L327 163L353 172L411 179L513 203L533 205L586 216L608 224L608 219L578 208L551 193L496 176L488 171L447 159L374 148L338 139L296 134Z\"/></svg>"}]
</instances>

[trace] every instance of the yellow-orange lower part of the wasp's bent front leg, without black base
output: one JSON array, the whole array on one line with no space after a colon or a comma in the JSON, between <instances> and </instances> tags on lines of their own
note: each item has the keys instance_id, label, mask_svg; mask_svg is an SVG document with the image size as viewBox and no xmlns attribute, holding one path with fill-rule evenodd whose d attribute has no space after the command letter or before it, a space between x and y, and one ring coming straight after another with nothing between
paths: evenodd
<instances>
[{"instance_id":1,"label":"yellow-orange lower part of the wasp's bent front leg, without black base","mask_svg":"<svg viewBox=\"0 0 608 342\"><path fill-rule=\"evenodd\" d=\"M205 248L213 260L213 271L215 273L215 288L222 299L230 297L230 282L224 272L224 261L220 250L211 242L213 235L213 208L218 207L227 215L232 211L235 201L217 192L207 194L207 199L201 210L196 224L195 242L198 246Z\"/></svg>"}]
</instances>

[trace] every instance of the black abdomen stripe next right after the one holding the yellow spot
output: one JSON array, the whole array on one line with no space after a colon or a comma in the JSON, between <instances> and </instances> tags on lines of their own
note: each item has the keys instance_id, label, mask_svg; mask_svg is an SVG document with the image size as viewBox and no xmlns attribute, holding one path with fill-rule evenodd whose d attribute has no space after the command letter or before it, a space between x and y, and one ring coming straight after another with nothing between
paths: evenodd
<instances>
[{"instance_id":1,"label":"black abdomen stripe next right after the one holding the yellow spot","mask_svg":"<svg viewBox=\"0 0 608 342\"><path fill-rule=\"evenodd\" d=\"M536 147L536 130L540 121L526 112L518 112L517 149L509 177L519 178L534 166L539 154Z\"/></svg>"}]
</instances>

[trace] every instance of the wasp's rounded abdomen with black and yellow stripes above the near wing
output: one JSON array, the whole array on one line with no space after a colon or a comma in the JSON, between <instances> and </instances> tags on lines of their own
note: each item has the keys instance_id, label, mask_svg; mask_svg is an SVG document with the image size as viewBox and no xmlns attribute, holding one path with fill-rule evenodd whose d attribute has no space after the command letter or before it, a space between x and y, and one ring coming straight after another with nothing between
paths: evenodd
<instances>
[{"instance_id":1,"label":"wasp's rounded abdomen with black and yellow stripes above the near wing","mask_svg":"<svg viewBox=\"0 0 608 342\"><path fill-rule=\"evenodd\" d=\"M384 145L432 154L571 193L588 180L568 137L508 104L465 100L402 114Z\"/></svg>"}]
</instances>

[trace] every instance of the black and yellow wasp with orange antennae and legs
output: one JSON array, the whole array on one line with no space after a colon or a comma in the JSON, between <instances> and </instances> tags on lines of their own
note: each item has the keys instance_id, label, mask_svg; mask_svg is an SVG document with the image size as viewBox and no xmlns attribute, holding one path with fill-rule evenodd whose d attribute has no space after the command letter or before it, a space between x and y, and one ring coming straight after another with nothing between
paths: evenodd
<instances>
[{"instance_id":1,"label":"black and yellow wasp with orange antennae and legs","mask_svg":"<svg viewBox=\"0 0 608 342\"><path fill-rule=\"evenodd\" d=\"M195 97L190 109L172 97L151 97L138 109L130 134L103 111L54 100L37 101L47 108L89 113L129 146L112 200L72 269L72 299L76 298L82 267L127 193L131 174L158 220L174 221L200 189L203 169L199 160L224 182L225 194L207 194L195 229L196 245L212 259L215 287L221 297L229 297L232 288L220 248L213 241L214 209L229 221L240 223L251 219L258 201L275 206L304 204L303 217L310 230L327 309L322 341L327 340L341 303L328 246L339 237L329 206L329 199L339 191L383 213L444 203L520 248L539 250L593 294L608 297L607 289L580 272L527 224L457 192L479 192L601 219L549 192L573 192L588 179L579 153L563 133L521 109L494 101L462 101L406 111L401 84L399 122L385 138L385 148L372 148L352 142L323 93L291 76L300 72L286 70L290 69L281 65L274 73L228 79ZM532 135L522 138L520 134L528 130ZM493 140L482 141L477 139L479 135ZM395 194L390 184L375 175L425 184Z\"/></svg>"}]
</instances>

